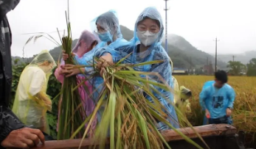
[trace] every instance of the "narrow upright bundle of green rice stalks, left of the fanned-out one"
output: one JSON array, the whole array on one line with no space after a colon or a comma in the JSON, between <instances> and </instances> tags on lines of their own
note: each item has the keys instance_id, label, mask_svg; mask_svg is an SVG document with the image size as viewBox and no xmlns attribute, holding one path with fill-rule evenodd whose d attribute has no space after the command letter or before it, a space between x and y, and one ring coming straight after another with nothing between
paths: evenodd
<instances>
[{"instance_id":1,"label":"narrow upright bundle of green rice stalks, left of the fanned-out one","mask_svg":"<svg viewBox=\"0 0 256 149\"><path fill-rule=\"evenodd\" d=\"M72 58L72 34L69 18L66 19L67 23L67 36L63 36L61 39L62 49L69 54L69 58L65 60L65 64L75 65L75 59ZM58 139L69 139L72 134L83 123L85 110L82 106L80 98L80 92L77 87L77 77L71 76L65 78L63 81L63 87L60 92L60 116L58 122ZM80 133L77 137L81 137Z\"/></svg>"}]
</instances>

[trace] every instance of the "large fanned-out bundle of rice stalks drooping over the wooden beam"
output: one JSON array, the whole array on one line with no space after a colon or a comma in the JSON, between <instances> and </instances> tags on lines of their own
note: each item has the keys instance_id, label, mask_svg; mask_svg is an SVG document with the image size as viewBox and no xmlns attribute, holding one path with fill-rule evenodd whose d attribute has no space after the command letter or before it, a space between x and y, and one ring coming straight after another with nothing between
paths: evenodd
<instances>
[{"instance_id":1,"label":"large fanned-out bundle of rice stalks drooping over the wooden beam","mask_svg":"<svg viewBox=\"0 0 256 149\"><path fill-rule=\"evenodd\" d=\"M100 59L95 61L99 62ZM105 67L103 73L105 85L100 93L94 112L85 121L85 123L89 122L90 126L97 112L100 112L100 109L104 107L101 121L97 124L95 130L94 147L99 145L100 148L105 148L105 140L109 137L111 149L164 148L164 145L170 148L156 128L156 121L162 121L180 134L187 142L197 148L201 148L196 142L193 142L167 121L167 115L163 110L165 107L152 93L152 91L158 92L155 87L160 87L164 90L170 90L170 87L153 81L148 77L142 77L158 74L145 73L133 69L139 65L151 65L162 61L145 62L137 65L120 64L120 62ZM79 67L84 66L76 66L75 68ZM98 75L99 70L97 68L95 70L95 75ZM145 98L143 92L151 96L153 103ZM160 92L158 93L159 95L161 94ZM86 128L83 139L88 132L89 127ZM75 134L71 138L74 136Z\"/></svg>"}]
</instances>

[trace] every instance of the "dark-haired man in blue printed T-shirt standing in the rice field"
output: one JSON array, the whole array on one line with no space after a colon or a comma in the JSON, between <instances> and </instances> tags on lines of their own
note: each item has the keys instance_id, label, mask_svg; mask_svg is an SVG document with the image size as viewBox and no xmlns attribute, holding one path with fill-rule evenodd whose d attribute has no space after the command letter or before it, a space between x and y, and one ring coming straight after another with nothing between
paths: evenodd
<instances>
[{"instance_id":1,"label":"dark-haired man in blue printed T-shirt standing in the rice field","mask_svg":"<svg viewBox=\"0 0 256 149\"><path fill-rule=\"evenodd\" d=\"M226 72L215 72L215 81L207 81L199 95L201 108L205 111L204 125L226 123L232 124L232 109L235 91L226 84Z\"/></svg>"}]
</instances>

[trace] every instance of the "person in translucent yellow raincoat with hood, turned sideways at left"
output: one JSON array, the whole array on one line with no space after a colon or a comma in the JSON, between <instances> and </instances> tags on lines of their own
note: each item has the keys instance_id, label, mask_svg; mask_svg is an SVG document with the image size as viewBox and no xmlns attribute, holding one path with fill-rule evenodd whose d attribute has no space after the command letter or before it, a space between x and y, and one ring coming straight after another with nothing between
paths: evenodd
<instances>
[{"instance_id":1,"label":"person in translucent yellow raincoat with hood, turned sideways at left","mask_svg":"<svg viewBox=\"0 0 256 149\"><path fill-rule=\"evenodd\" d=\"M21 73L13 103L13 112L22 123L46 133L49 133L46 112L52 110L46 88L55 66L51 54L46 50L41 51Z\"/></svg>"}]
</instances>

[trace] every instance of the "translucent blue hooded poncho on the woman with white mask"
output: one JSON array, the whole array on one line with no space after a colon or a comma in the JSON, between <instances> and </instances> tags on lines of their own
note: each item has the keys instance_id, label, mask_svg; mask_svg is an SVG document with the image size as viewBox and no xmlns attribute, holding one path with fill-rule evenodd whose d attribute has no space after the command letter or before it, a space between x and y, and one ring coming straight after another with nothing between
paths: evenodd
<instances>
[{"instance_id":1,"label":"translucent blue hooded poncho on the woman with white mask","mask_svg":"<svg viewBox=\"0 0 256 149\"><path fill-rule=\"evenodd\" d=\"M153 35L152 32L145 31L143 34L149 34L148 38L142 37L143 35L140 34L139 29L137 29L138 24L143 21L145 18L151 18L154 21L156 21L159 26L159 32L155 33ZM167 52L165 49L161 46L162 43L162 36L163 36L164 26L162 22L162 17L159 14L159 12L154 7L148 7L146 8L140 15L139 18L136 21L135 29L134 29L134 38L128 42L128 45L122 46L120 48L113 49L106 49L105 51L101 51L99 57L103 56L105 53L110 53L113 57L114 62L118 62L123 57L126 57L127 54L131 54L130 57L125 59L123 61L124 63L141 63L141 62L150 62L153 60L163 60L164 62L154 65L142 65L139 67L134 68L135 70L144 71L144 72L156 72L159 73L163 79L165 79L166 83L173 87L172 83L172 68L170 65L170 59L167 55ZM154 37L151 36L151 34L155 37L155 40L153 40ZM140 37L139 37L140 36ZM139 52L140 47L140 40L143 40L143 45L149 47L146 51ZM153 41L153 42L152 42ZM151 79L156 80L158 82L161 82L160 79L157 76L151 76ZM153 92L154 95L159 99L159 101L162 103L163 106L165 106L165 112L167 115L169 115L170 118L168 118L168 121L175 127L179 128L179 123L177 121L177 115L176 111L172 105L173 103L173 94L170 91L162 90L158 87L156 89L159 90L159 92L162 93L166 98L169 100L166 100L165 98L162 98L161 95L157 94L156 92ZM151 97L149 95L146 95L146 98L148 98L149 101L153 102ZM172 102L172 103L171 103ZM159 125L157 125L159 131L160 130L166 130L169 129L168 126L166 126L164 123L159 122Z\"/></svg>"}]
</instances>

